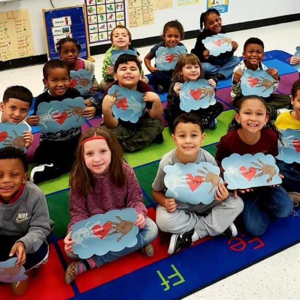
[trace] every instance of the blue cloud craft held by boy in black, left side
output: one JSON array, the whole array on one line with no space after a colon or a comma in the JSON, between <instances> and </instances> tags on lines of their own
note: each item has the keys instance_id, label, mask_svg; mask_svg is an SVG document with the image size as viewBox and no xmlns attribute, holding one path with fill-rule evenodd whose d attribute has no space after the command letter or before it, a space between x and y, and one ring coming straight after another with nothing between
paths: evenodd
<instances>
[{"instance_id":1,"label":"blue cloud craft held by boy in black, left side","mask_svg":"<svg viewBox=\"0 0 300 300\"><path fill-rule=\"evenodd\" d=\"M82 97L39 103L36 115L39 116L40 132L57 132L80 127L85 121L81 115L85 107Z\"/></svg>"}]
</instances>

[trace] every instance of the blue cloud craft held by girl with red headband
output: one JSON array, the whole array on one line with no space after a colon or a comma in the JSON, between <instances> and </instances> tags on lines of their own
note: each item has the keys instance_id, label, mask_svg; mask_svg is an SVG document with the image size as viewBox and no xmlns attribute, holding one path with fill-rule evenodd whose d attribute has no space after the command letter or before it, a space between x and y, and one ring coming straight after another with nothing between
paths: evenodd
<instances>
[{"instance_id":1,"label":"blue cloud craft held by girl with red headband","mask_svg":"<svg viewBox=\"0 0 300 300\"><path fill-rule=\"evenodd\" d=\"M84 259L133 247L139 230L134 224L136 218L134 208L124 208L98 213L73 224L73 253Z\"/></svg>"}]
</instances>

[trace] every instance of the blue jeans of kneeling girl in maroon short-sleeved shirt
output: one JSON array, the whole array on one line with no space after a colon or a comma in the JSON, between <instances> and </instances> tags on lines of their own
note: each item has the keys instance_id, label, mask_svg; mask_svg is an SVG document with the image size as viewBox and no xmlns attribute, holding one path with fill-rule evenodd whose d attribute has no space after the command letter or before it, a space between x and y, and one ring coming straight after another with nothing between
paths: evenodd
<instances>
[{"instance_id":1,"label":"blue jeans of kneeling girl in maroon short-sleeved shirt","mask_svg":"<svg viewBox=\"0 0 300 300\"><path fill-rule=\"evenodd\" d=\"M244 202L243 222L252 235L264 233L272 216L286 217L292 212L292 202L282 186L255 187L240 196Z\"/></svg>"}]
</instances>

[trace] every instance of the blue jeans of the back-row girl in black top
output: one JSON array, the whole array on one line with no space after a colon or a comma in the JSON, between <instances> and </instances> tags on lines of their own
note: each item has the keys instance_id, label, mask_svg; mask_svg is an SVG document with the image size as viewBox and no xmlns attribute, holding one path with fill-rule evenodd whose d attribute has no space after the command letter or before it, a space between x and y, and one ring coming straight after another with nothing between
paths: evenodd
<instances>
[{"instance_id":1,"label":"blue jeans of the back-row girl in black top","mask_svg":"<svg viewBox=\"0 0 300 300\"><path fill-rule=\"evenodd\" d=\"M201 62L201 66L204 71L204 76L214 75L215 73L220 73L228 78L232 75L233 68L239 63L239 58L237 56L231 56L228 58L217 58L210 56L212 60L209 62Z\"/></svg>"}]
</instances>

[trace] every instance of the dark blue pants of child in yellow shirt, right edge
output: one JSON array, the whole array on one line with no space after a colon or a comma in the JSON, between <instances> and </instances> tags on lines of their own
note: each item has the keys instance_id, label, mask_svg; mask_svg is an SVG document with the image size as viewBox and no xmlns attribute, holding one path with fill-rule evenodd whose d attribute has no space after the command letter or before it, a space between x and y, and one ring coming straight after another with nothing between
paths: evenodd
<instances>
[{"instance_id":1,"label":"dark blue pants of child in yellow shirt, right edge","mask_svg":"<svg viewBox=\"0 0 300 300\"><path fill-rule=\"evenodd\" d=\"M287 191L297 191L300 192L300 164L286 163L281 160L277 160L276 164L280 170L280 174L284 176L282 178L282 186Z\"/></svg>"}]
</instances>

